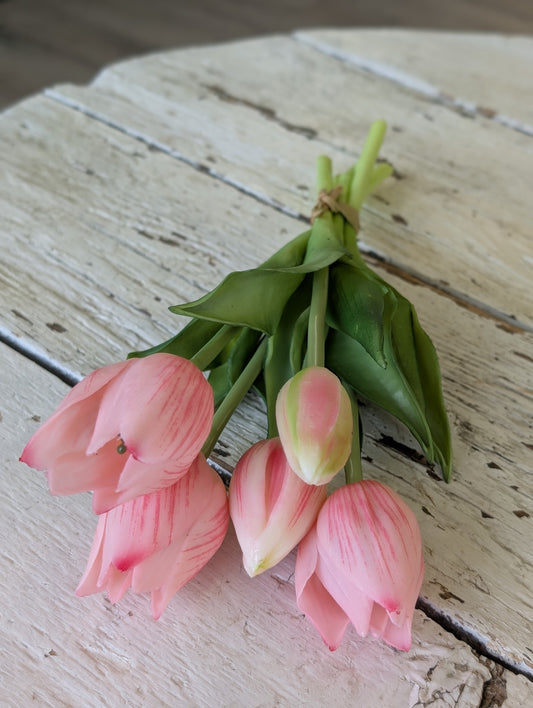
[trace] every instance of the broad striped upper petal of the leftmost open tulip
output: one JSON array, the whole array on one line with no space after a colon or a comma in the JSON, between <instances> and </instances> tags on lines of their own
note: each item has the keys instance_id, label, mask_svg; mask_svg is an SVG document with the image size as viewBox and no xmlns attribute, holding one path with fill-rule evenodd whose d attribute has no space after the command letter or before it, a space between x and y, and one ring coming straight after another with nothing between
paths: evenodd
<instances>
[{"instance_id":1,"label":"broad striped upper petal of the leftmost open tulip","mask_svg":"<svg viewBox=\"0 0 533 708\"><path fill-rule=\"evenodd\" d=\"M211 386L194 364L172 354L131 362L102 399L89 451L120 435L139 460L191 464L211 429Z\"/></svg>"}]
</instances>

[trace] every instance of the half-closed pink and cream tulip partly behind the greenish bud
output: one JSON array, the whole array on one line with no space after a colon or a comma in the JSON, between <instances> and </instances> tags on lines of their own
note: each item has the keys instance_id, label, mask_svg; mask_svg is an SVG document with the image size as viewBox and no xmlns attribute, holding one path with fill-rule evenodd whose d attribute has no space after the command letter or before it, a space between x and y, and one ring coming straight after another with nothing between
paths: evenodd
<instances>
[{"instance_id":1,"label":"half-closed pink and cream tulip partly behind the greenish bud","mask_svg":"<svg viewBox=\"0 0 533 708\"><path fill-rule=\"evenodd\" d=\"M294 474L279 438L262 440L241 457L231 478L229 505L248 575L258 575L290 553L315 522L326 491Z\"/></svg>"}]
</instances>

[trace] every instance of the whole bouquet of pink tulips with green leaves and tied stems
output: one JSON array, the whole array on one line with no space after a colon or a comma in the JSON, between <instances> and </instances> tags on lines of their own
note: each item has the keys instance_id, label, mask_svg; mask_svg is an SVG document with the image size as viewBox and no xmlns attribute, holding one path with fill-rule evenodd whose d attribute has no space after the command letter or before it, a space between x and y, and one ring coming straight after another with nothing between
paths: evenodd
<instances>
[{"instance_id":1,"label":"whole bouquet of pink tulips with green leaves and tied stems","mask_svg":"<svg viewBox=\"0 0 533 708\"><path fill-rule=\"evenodd\" d=\"M98 525L79 595L150 591L159 617L231 517L251 576L298 546L296 602L330 649L349 623L409 648L420 531L392 489L362 479L358 399L403 422L446 480L451 447L433 345L358 250L363 201L392 172L377 162L384 132L372 125L344 174L318 159L308 230L171 307L191 318L184 329L94 371L27 444L21 459L46 470L53 494L93 492ZM268 438L240 459L228 495L207 459L252 387ZM341 471L346 483L328 496Z\"/></svg>"}]
</instances>

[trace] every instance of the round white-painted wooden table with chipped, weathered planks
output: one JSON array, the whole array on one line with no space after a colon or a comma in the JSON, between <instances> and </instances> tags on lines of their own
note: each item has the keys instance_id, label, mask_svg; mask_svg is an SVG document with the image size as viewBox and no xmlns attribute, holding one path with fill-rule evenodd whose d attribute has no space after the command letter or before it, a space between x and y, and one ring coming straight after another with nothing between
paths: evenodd
<instances>
[{"instance_id":1,"label":"round white-painted wooden table with chipped, weathered planks","mask_svg":"<svg viewBox=\"0 0 533 708\"><path fill-rule=\"evenodd\" d=\"M134 59L0 116L1 706L533 705L532 69L526 37L315 31ZM50 497L24 443L65 380L300 233L315 158L346 169L376 118L396 176L362 239L435 342L455 450L447 486L365 408L367 475L422 528L413 648L330 653L294 556L251 580L232 533L157 622L145 596L75 597L90 498ZM263 432L251 398L214 458Z\"/></svg>"}]
</instances>

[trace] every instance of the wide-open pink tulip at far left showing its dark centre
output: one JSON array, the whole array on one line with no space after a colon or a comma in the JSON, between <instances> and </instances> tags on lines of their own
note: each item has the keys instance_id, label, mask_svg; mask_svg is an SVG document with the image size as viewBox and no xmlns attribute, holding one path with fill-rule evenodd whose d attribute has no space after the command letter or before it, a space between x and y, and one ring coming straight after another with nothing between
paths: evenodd
<instances>
[{"instance_id":1,"label":"wide-open pink tulip at far left showing its dark centre","mask_svg":"<svg viewBox=\"0 0 533 708\"><path fill-rule=\"evenodd\" d=\"M213 391L187 359L152 354L94 371L64 398L21 460L52 494L94 490L97 514L169 486L200 452Z\"/></svg>"}]
</instances>

